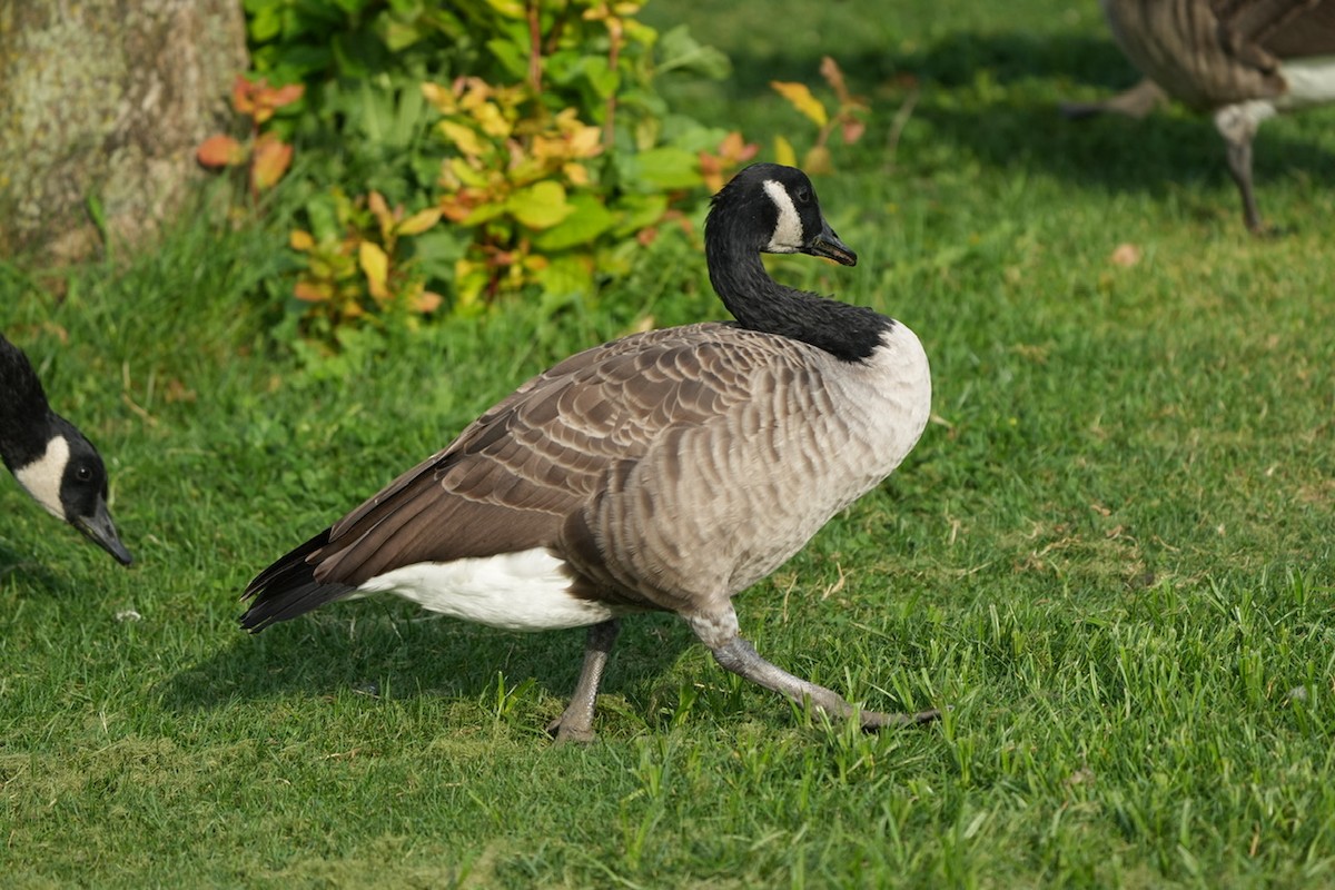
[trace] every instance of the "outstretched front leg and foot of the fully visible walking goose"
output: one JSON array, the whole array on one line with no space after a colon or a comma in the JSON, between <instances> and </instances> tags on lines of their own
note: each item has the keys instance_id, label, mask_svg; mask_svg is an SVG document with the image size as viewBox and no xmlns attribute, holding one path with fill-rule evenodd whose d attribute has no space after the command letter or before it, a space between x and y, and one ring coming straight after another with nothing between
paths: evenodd
<instances>
[{"instance_id":1,"label":"outstretched front leg and foot of the fully visible walking goose","mask_svg":"<svg viewBox=\"0 0 1335 890\"><path fill-rule=\"evenodd\" d=\"M917 714L882 714L864 711L845 702L838 693L824 686L793 677L788 671L766 662L756 647L738 635L737 612L728 608L724 614L698 615L689 618L692 630L709 647L724 669L744 677L765 689L781 693L805 707L813 707L830 717L857 717L864 730L877 730L886 726L909 726L926 723L941 717L940 711L918 711Z\"/></svg>"}]
</instances>

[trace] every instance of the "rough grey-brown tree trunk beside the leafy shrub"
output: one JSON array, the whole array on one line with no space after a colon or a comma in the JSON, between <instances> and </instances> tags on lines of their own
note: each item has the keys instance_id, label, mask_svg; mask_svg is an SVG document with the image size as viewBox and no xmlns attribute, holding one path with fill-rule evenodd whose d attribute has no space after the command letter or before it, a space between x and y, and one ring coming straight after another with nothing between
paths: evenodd
<instances>
[{"instance_id":1,"label":"rough grey-brown tree trunk beside the leafy shrub","mask_svg":"<svg viewBox=\"0 0 1335 890\"><path fill-rule=\"evenodd\" d=\"M0 256L146 247L246 67L240 0L0 0Z\"/></svg>"}]
</instances>

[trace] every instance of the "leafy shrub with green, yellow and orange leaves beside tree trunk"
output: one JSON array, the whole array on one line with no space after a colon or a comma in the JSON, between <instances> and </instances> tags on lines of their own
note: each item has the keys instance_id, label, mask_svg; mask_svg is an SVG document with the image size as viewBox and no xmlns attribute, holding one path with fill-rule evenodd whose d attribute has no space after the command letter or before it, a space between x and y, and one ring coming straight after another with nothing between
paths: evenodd
<instances>
[{"instance_id":1,"label":"leafy shrub with green, yellow and orange leaves beside tree trunk","mask_svg":"<svg viewBox=\"0 0 1335 890\"><path fill-rule=\"evenodd\" d=\"M754 153L666 107L661 77L728 60L638 3L244 5L251 81L304 87L252 140L296 147L296 271L275 291L320 340L506 295L586 299Z\"/></svg>"}]
</instances>

